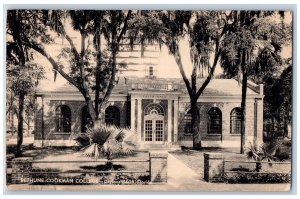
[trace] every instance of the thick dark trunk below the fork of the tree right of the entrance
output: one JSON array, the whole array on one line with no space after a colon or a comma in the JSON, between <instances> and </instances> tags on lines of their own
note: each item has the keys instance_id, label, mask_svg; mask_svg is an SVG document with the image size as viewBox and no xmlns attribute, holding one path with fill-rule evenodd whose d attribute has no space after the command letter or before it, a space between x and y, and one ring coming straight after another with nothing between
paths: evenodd
<instances>
[{"instance_id":1,"label":"thick dark trunk below the fork of the tree right of the entrance","mask_svg":"<svg viewBox=\"0 0 300 199\"><path fill-rule=\"evenodd\" d=\"M191 128L193 133L193 149L201 149L200 115L197 100L191 99Z\"/></svg>"}]
</instances>

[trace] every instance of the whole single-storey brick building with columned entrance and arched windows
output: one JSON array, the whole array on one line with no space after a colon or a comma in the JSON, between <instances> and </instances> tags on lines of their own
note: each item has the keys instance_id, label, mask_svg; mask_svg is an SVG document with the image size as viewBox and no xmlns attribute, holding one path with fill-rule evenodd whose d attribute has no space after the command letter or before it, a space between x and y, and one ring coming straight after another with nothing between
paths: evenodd
<instances>
[{"instance_id":1,"label":"whole single-storey brick building with columned entrance and arched windows","mask_svg":"<svg viewBox=\"0 0 300 199\"><path fill-rule=\"evenodd\" d=\"M204 79L199 79L199 85ZM90 122L71 85L36 93L35 146L72 146ZM198 99L203 147L240 147L241 85L212 79ZM263 85L248 82L246 142L263 135ZM105 122L136 131L140 149L192 146L190 99L181 79L122 77L105 108Z\"/></svg>"}]
</instances>

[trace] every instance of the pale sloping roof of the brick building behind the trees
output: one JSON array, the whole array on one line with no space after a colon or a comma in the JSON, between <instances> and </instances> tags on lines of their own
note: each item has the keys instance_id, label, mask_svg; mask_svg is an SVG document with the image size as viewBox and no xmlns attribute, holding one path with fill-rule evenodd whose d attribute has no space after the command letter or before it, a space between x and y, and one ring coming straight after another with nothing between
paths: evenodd
<instances>
[{"instance_id":1,"label":"pale sloping roof of the brick building behind the trees","mask_svg":"<svg viewBox=\"0 0 300 199\"><path fill-rule=\"evenodd\" d=\"M203 84L205 79L197 80L197 89ZM118 84L113 89L113 94L128 94L128 92L139 91L161 91L180 92L187 94L186 86L180 78L138 78L121 77ZM65 84L53 90L46 91L39 89L37 93L74 93L79 92L73 85ZM204 96L240 96L242 84L234 79L212 79L205 88ZM263 95L259 85L248 81L247 96Z\"/></svg>"}]
</instances>

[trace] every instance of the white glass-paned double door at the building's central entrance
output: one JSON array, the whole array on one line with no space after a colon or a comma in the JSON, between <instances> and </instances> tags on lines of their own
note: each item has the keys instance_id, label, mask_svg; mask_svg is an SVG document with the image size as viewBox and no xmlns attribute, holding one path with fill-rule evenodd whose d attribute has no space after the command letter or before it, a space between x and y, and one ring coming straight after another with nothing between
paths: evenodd
<instances>
[{"instance_id":1,"label":"white glass-paned double door at the building's central entrance","mask_svg":"<svg viewBox=\"0 0 300 199\"><path fill-rule=\"evenodd\" d=\"M163 144L164 117L161 115L147 115L144 119L145 142L148 144Z\"/></svg>"}]
</instances>

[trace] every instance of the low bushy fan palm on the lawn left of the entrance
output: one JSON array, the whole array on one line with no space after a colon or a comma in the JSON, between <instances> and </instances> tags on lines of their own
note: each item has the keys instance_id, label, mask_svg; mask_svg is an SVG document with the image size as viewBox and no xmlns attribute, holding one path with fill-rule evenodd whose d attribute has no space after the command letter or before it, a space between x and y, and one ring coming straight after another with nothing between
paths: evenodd
<instances>
[{"instance_id":1,"label":"low bushy fan palm on the lawn left of the entrance","mask_svg":"<svg viewBox=\"0 0 300 199\"><path fill-rule=\"evenodd\" d=\"M99 126L89 128L86 135L75 138L83 155L106 157L108 160L132 154L136 148L136 133L126 128Z\"/></svg>"}]
</instances>

